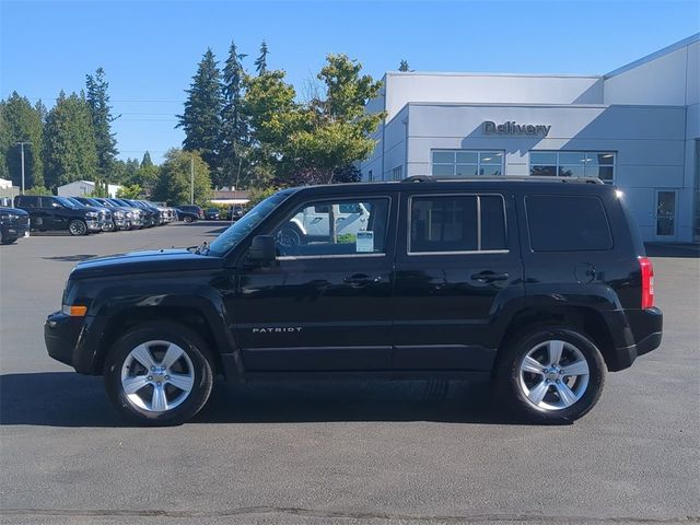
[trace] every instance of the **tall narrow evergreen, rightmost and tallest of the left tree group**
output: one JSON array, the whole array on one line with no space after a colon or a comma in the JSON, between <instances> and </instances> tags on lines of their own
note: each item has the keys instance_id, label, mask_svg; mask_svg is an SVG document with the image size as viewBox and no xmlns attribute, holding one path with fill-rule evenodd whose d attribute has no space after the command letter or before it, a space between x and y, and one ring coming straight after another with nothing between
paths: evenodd
<instances>
[{"instance_id":1,"label":"tall narrow evergreen, rightmost and tallest of the left tree group","mask_svg":"<svg viewBox=\"0 0 700 525\"><path fill-rule=\"evenodd\" d=\"M109 83L105 80L105 71L97 68L95 74L85 75L88 88L88 104L92 116L92 125L97 148L97 173L105 180L110 180L114 162L117 156L117 141L112 132L112 106L107 89Z\"/></svg>"}]
</instances>

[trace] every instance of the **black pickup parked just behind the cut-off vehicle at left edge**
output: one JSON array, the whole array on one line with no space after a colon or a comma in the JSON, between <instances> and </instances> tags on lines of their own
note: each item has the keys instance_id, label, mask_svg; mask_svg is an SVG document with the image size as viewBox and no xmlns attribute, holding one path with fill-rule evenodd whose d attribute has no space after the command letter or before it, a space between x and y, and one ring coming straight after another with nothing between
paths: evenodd
<instances>
[{"instance_id":1,"label":"black pickup parked just behind the cut-off vehicle at left edge","mask_svg":"<svg viewBox=\"0 0 700 525\"><path fill-rule=\"evenodd\" d=\"M14 207L26 211L32 230L40 232L68 230L71 235L88 235L107 228L104 212L80 207L63 197L19 195L14 198Z\"/></svg>"}]
</instances>

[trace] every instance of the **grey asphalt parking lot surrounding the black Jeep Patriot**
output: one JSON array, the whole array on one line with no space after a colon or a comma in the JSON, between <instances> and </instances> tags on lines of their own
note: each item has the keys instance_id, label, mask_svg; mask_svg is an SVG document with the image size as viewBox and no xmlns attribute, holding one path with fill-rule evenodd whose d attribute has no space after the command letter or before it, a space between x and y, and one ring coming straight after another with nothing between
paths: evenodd
<instances>
[{"instance_id":1,"label":"grey asphalt parking lot surrounding the black Jeep Patriot","mask_svg":"<svg viewBox=\"0 0 700 525\"><path fill-rule=\"evenodd\" d=\"M662 347L571 425L510 419L487 384L218 384L177 428L124 425L100 377L46 355L85 258L211 241L223 223L0 247L3 523L697 523L700 258L652 247Z\"/></svg>"}]
</instances>

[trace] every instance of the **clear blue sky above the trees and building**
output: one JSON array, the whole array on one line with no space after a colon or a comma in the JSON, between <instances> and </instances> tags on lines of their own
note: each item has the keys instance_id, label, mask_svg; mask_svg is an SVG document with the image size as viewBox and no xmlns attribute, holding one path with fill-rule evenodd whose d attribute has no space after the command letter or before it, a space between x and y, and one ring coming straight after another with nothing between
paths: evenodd
<instances>
[{"instance_id":1,"label":"clear blue sky above the trees and building","mask_svg":"<svg viewBox=\"0 0 700 525\"><path fill-rule=\"evenodd\" d=\"M253 70L265 39L268 67L303 92L329 52L377 79L402 58L416 71L604 74L698 31L700 0L0 0L0 97L50 107L103 67L119 158L160 162L182 144L197 62L208 47L223 62L232 40Z\"/></svg>"}]
</instances>

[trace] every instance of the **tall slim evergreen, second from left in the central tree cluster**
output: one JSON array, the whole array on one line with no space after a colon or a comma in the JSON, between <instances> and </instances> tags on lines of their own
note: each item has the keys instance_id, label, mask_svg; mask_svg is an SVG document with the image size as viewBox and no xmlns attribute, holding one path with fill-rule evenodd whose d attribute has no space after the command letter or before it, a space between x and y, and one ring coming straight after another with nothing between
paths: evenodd
<instances>
[{"instance_id":1,"label":"tall slim evergreen, second from left in the central tree cluster","mask_svg":"<svg viewBox=\"0 0 700 525\"><path fill-rule=\"evenodd\" d=\"M241 62L246 55L240 54L232 42L229 58L223 68L223 98L221 112L221 167L213 174L217 187L234 187L238 184L242 171L246 168L249 145L248 118L244 113L245 70Z\"/></svg>"}]
</instances>

